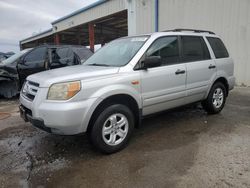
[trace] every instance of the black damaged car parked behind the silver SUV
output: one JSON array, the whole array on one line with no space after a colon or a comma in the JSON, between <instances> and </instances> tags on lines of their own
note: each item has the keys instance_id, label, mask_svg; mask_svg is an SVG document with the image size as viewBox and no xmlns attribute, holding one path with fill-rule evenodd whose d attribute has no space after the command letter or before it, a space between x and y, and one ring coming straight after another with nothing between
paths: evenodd
<instances>
[{"instance_id":1,"label":"black damaged car parked behind the silver SUV","mask_svg":"<svg viewBox=\"0 0 250 188\"><path fill-rule=\"evenodd\" d=\"M27 76L60 67L79 65L84 63L93 53L82 46L68 46L68 45L43 45L33 48L25 53L17 60L14 58L5 60L7 63L0 65L0 80L9 80L14 82L11 89L3 86L6 82L1 84L0 95L7 98L13 97L18 93L22 87ZM13 60L13 63L11 63ZM1 86L2 85L2 86Z\"/></svg>"}]
</instances>

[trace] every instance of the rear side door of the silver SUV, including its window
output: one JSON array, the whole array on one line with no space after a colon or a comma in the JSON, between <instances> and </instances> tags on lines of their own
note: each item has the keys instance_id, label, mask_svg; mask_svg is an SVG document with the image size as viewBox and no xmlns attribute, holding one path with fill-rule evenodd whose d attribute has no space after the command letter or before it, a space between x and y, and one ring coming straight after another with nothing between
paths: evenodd
<instances>
[{"instance_id":1,"label":"rear side door of the silver SUV, including its window","mask_svg":"<svg viewBox=\"0 0 250 188\"><path fill-rule=\"evenodd\" d=\"M202 36L181 36L182 61L187 67L187 101L204 98L210 83L216 76L215 61L211 59Z\"/></svg>"}]
</instances>

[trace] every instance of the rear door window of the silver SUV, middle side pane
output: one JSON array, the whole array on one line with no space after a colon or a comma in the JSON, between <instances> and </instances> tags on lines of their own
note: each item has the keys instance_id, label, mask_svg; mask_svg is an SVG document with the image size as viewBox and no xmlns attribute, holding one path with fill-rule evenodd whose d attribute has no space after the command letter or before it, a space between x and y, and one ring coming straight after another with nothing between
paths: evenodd
<instances>
[{"instance_id":1,"label":"rear door window of the silver SUV, middle side pane","mask_svg":"<svg viewBox=\"0 0 250 188\"><path fill-rule=\"evenodd\" d=\"M182 56L184 62L210 59L207 45L202 37L182 36Z\"/></svg>"}]
</instances>

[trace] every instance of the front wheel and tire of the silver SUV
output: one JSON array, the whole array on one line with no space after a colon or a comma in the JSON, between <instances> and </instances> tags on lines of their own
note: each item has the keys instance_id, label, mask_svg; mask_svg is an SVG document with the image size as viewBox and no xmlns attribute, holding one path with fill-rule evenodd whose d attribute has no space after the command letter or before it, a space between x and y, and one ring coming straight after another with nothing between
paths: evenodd
<instances>
[{"instance_id":1,"label":"front wheel and tire of the silver SUV","mask_svg":"<svg viewBox=\"0 0 250 188\"><path fill-rule=\"evenodd\" d=\"M122 104L105 108L90 131L90 141L99 151L111 154L125 148L134 129L134 116Z\"/></svg>"}]
</instances>

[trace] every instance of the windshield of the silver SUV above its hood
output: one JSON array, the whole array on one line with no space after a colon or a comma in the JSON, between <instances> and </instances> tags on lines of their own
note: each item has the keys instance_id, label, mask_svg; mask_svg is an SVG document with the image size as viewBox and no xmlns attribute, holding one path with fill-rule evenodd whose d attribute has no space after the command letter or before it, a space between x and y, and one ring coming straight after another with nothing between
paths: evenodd
<instances>
[{"instance_id":1,"label":"windshield of the silver SUV above its hood","mask_svg":"<svg viewBox=\"0 0 250 188\"><path fill-rule=\"evenodd\" d=\"M146 42L148 36L129 37L107 44L83 65L121 67L126 65Z\"/></svg>"}]
</instances>

